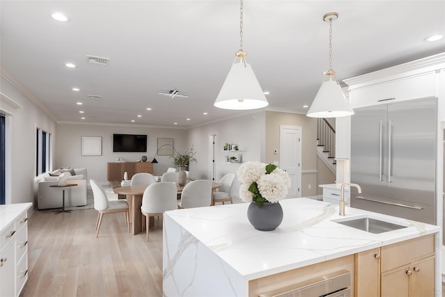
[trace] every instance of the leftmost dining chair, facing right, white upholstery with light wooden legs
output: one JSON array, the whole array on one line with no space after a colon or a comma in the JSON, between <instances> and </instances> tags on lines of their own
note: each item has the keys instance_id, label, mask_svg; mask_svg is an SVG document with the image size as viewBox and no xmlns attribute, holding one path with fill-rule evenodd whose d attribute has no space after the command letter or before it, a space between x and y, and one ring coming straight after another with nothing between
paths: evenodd
<instances>
[{"instance_id":1,"label":"leftmost dining chair, facing right, white upholstery with light wooden legs","mask_svg":"<svg viewBox=\"0 0 445 297\"><path fill-rule=\"evenodd\" d=\"M104 217L104 214L124 212L125 224L128 226L128 230L130 231L129 208L127 201L108 201L104 188L102 188L102 186L100 186L100 184L95 179L90 179L90 185L92 189L92 195L94 196L95 209L99 211L99 214L97 214L96 222L96 237L99 235L99 229L100 225L102 224L102 218Z\"/></svg>"}]
</instances>

